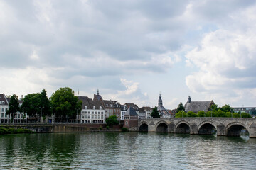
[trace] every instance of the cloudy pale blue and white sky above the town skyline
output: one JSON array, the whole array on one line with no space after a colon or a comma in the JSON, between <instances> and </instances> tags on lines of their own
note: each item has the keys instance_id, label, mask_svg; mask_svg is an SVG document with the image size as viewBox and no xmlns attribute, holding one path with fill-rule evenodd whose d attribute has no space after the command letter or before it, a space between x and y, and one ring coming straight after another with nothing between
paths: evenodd
<instances>
[{"instance_id":1,"label":"cloudy pale blue and white sky above the town skyline","mask_svg":"<svg viewBox=\"0 0 256 170\"><path fill-rule=\"evenodd\" d=\"M256 106L256 1L0 0L0 93Z\"/></svg>"}]
</instances>

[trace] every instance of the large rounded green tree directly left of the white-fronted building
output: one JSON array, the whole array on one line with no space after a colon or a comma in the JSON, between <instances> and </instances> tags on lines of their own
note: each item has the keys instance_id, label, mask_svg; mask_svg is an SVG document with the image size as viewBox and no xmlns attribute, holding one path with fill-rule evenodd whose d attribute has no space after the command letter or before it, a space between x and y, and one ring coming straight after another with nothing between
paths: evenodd
<instances>
[{"instance_id":1,"label":"large rounded green tree directly left of the white-fronted building","mask_svg":"<svg viewBox=\"0 0 256 170\"><path fill-rule=\"evenodd\" d=\"M69 87L60 88L50 97L55 110L55 117L60 117L61 121L69 118L75 119L77 113L82 110L82 101L74 95L74 91Z\"/></svg>"}]
</instances>

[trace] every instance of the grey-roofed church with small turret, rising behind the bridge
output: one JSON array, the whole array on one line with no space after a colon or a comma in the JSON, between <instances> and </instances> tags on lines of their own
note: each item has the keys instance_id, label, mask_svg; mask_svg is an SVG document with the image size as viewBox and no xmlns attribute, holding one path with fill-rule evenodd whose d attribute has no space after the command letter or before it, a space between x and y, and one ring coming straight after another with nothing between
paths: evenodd
<instances>
[{"instance_id":1,"label":"grey-roofed church with small turret, rising behind the bridge","mask_svg":"<svg viewBox=\"0 0 256 170\"><path fill-rule=\"evenodd\" d=\"M212 101L191 101L191 97L188 96L188 101L186 102L184 108L185 112L193 111L198 113L198 111L210 111L210 106L214 104Z\"/></svg>"}]
</instances>

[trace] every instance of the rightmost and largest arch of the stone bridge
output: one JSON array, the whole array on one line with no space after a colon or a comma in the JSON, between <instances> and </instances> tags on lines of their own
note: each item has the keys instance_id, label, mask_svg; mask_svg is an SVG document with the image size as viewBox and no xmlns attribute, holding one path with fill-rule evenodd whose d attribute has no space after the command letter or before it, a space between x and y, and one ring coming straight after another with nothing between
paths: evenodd
<instances>
[{"instance_id":1,"label":"rightmost and largest arch of the stone bridge","mask_svg":"<svg viewBox=\"0 0 256 170\"><path fill-rule=\"evenodd\" d=\"M249 132L249 128L244 123L233 122L225 127L226 136L240 136L241 130L245 128ZM249 134L250 136L250 134Z\"/></svg>"}]
</instances>

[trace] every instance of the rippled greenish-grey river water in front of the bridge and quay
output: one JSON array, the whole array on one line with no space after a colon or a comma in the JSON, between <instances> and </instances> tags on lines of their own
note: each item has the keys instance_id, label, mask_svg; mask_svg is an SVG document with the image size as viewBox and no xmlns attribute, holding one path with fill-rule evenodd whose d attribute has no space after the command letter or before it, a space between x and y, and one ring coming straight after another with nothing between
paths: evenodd
<instances>
[{"instance_id":1,"label":"rippled greenish-grey river water in front of the bridge and quay","mask_svg":"<svg viewBox=\"0 0 256 170\"><path fill-rule=\"evenodd\" d=\"M256 169L256 139L150 132L0 135L0 169Z\"/></svg>"}]
</instances>

